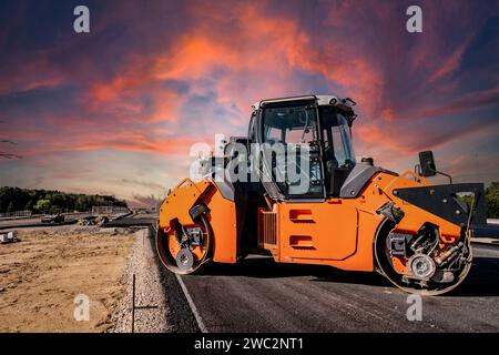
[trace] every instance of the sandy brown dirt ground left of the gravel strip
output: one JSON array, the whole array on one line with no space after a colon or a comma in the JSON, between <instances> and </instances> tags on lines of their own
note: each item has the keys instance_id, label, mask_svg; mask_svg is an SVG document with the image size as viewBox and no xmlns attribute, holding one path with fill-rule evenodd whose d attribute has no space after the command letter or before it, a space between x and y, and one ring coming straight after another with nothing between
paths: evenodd
<instances>
[{"instance_id":1,"label":"sandy brown dirt ground left of the gravel strip","mask_svg":"<svg viewBox=\"0 0 499 355\"><path fill-rule=\"evenodd\" d=\"M61 226L18 236L0 245L0 332L105 332L134 234ZM89 321L75 321L79 294L89 297Z\"/></svg>"}]
</instances>

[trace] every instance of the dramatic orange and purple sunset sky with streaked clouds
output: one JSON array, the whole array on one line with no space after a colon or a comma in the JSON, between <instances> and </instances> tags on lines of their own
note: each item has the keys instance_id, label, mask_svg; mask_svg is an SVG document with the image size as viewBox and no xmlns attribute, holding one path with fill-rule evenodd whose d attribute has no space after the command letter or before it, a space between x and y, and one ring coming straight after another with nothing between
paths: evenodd
<instances>
[{"instance_id":1,"label":"dramatic orange and purple sunset sky with streaked clouds","mask_svg":"<svg viewBox=\"0 0 499 355\"><path fill-rule=\"evenodd\" d=\"M357 159L499 181L499 2L3 0L0 185L147 202L253 102L310 92L357 101Z\"/></svg>"}]
</instances>

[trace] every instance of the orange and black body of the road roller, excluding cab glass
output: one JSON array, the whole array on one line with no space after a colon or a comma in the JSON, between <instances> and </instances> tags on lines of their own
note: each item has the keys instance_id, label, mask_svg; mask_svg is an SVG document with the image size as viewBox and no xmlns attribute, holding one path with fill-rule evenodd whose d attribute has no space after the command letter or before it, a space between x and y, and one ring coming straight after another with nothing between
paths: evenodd
<instances>
[{"instance_id":1,"label":"orange and black body of the road roller, excluding cab glass","mask_svg":"<svg viewBox=\"0 0 499 355\"><path fill-rule=\"evenodd\" d=\"M356 118L350 99L305 95L255 103L248 135L231 139L218 169L237 159L231 144L265 143L265 110L294 105L316 112L318 142L312 142L316 155L309 156L320 165L322 196L286 194L265 150L261 165L248 164L248 173L259 171L258 181L215 179L215 160L201 181L183 180L161 205L156 245L164 265L189 274L208 262L236 263L249 253L267 253L281 263L377 271L408 292L441 294L459 285L471 266L470 224L485 223L483 184L432 185L413 171L399 175L367 159L333 168L339 182L328 186L320 109L338 110L350 129ZM289 120L301 114L289 112ZM265 175L272 179L264 182ZM472 194L470 206L460 193Z\"/></svg>"}]
</instances>

